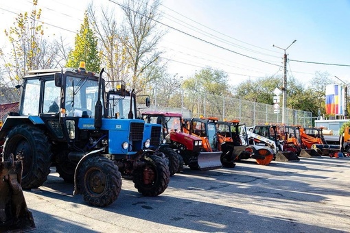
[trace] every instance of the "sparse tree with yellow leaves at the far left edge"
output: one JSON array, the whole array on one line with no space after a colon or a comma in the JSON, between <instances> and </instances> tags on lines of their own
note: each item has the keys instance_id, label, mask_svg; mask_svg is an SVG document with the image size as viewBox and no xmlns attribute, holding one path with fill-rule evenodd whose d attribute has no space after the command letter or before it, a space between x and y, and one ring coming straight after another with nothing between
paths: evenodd
<instances>
[{"instance_id":1,"label":"sparse tree with yellow leaves at the far left edge","mask_svg":"<svg viewBox=\"0 0 350 233\"><path fill-rule=\"evenodd\" d=\"M3 86L13 88L21 84L28 71L34 69L50 69L56 66L56 48L44 37L43 23L40 21L41 9L36 10L38 0L33 0L30 13L18 14L14 26L5 29L5 36L10 42L10 52L0 51L5 64ZM14 101L19 99L19 91L12 91Z\"/></svg>"}]
</instances>

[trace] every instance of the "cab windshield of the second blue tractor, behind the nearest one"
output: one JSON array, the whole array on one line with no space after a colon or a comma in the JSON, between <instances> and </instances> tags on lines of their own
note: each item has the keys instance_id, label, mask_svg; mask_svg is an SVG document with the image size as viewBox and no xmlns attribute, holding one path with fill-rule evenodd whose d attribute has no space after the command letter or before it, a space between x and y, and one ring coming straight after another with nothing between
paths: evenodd
<instances>
[{"instance_id":1,"label":"cab windshield of the second blue tractor, behind the nearest one","mask_svg":"<svg viewBox=\"0 0 350 233\"><path fill-rule=\"evenodd\" d=\"M118 119L128 119L130 112L130 96L110 95L108 97L108 116ZM132 101L132 112L135 118L135 104ZM153 123L153 122L150 122Z\"/></svg>"}]
</instances>

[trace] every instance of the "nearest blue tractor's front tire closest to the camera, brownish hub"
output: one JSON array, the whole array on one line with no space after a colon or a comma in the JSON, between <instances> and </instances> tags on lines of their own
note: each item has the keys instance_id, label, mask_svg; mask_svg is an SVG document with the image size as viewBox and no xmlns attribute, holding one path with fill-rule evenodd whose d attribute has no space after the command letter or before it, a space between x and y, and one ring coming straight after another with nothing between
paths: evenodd
<instances>
[{"instance_id":1,"label":"nearest blue tractor's front tire closest to the camera, brownish hub","mask_svg":"<svg viewBox=\"0 0 350 233\"><path fill-rule=\"evenodd\" d=\"M91 206L109 206L121 191L121 174L108 158L88 158L79 168L77 177L80 193Z\"/></svg>"}]
</instances>

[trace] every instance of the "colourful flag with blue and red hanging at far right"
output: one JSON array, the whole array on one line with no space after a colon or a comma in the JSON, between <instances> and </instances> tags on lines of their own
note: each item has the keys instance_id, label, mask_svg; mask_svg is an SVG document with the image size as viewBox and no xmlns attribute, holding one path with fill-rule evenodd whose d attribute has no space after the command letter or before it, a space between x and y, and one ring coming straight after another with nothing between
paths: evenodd
<instances>
[{"instance_id":1,"label":"colourful flag with blue and red hanging at far right","mask_svg":"<svg viewBox=\"0 0 350 233\"><path fill-rule=\"evenodd\" d=\"M326 114L343 114L343 96L342 86L334 84L326 86Z\"/></svg>"}]
</instances>

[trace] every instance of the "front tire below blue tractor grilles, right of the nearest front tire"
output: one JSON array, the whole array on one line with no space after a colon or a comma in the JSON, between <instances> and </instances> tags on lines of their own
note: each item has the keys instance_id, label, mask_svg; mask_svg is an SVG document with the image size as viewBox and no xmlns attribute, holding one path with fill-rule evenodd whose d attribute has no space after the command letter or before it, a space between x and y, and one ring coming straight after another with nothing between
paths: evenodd
<instances>
[{"instance_id":1,"label":"front tire below blue tractor grilles, right of the nearest front tire","mask_svg":"<svg viewBox=\"0 0 350 233\"><path fill-rule=\"evenodd\" d=\"M170 171L166 162L159 156L141 158L141 161L145 162L145 165L137 167L133 171L132 182L134 182L135 188L144 196L155 197L160 195L170 182ZM154 178L150 184L144 182L145 169L151 169L154 173Z\"/></svg>"}]
</instances>

